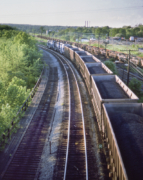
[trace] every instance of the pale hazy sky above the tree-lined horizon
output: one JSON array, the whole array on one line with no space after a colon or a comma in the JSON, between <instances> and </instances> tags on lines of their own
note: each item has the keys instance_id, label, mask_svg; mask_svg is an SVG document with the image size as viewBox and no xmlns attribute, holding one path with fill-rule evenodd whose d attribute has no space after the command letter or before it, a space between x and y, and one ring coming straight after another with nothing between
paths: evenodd
<instances>
[{"instance_id":1,"label":"pale hazy sky above the tree-lined horizon","mask_svg":"<svg viewBox=\"0 0 143 180\"><path fill-rule=\"evenodd\" d=\"M143 24L143 0L0 0L0 24L123 27Z\"/></svg>"}]
</instances>

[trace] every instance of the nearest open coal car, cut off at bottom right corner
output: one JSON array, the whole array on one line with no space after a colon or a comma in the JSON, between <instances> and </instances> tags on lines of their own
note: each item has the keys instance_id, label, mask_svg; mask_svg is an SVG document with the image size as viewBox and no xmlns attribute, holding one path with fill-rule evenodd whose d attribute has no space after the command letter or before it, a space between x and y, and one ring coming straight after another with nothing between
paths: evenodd
<instances>
[{"instance_id":1,"label":"nearest open coal car, cut off at bottom right corner","mask_svg":"<svg viewBox=\"0 0 143 180\"><path fill-rule=\"evenodd\" d=\"M143 104L105 103L103 123L111 153L108 163L112 179L142 179Z\"/></svg>"}]
</instances>

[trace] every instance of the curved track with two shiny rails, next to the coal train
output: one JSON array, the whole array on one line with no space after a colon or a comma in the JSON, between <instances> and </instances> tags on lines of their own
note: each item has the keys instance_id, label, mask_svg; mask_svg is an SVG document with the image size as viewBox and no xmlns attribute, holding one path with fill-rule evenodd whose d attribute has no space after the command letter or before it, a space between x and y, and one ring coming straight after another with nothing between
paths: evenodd
<instances>
[{"instance_id":1,"label":"curved track with two shiny rails, next to the coal train","mask_svg":"<svg viewBox=\"0 0 143 180\"><path fill-rule=\"evenodd\" d=\"M47 50L47 49L46 49ZM76 80L74 71L66 59L53 52L52 53L64 66L68 78L70 89L69 96L69 122L68 122L68 136L67 144L63 137L63 142L59 150L59 168L54 173L54 179L86 179L88 180L88 164L87 164L87 149L86 149L86 135L84 125L84 115L81 102L81 95ZM65 132L63 132L65 134ZM66 147L67 146L67 147ZM66 151L66 159L64 161L63 154ZM62 169L61 166L64 168Z\"/></svg>"}]
</instances>

